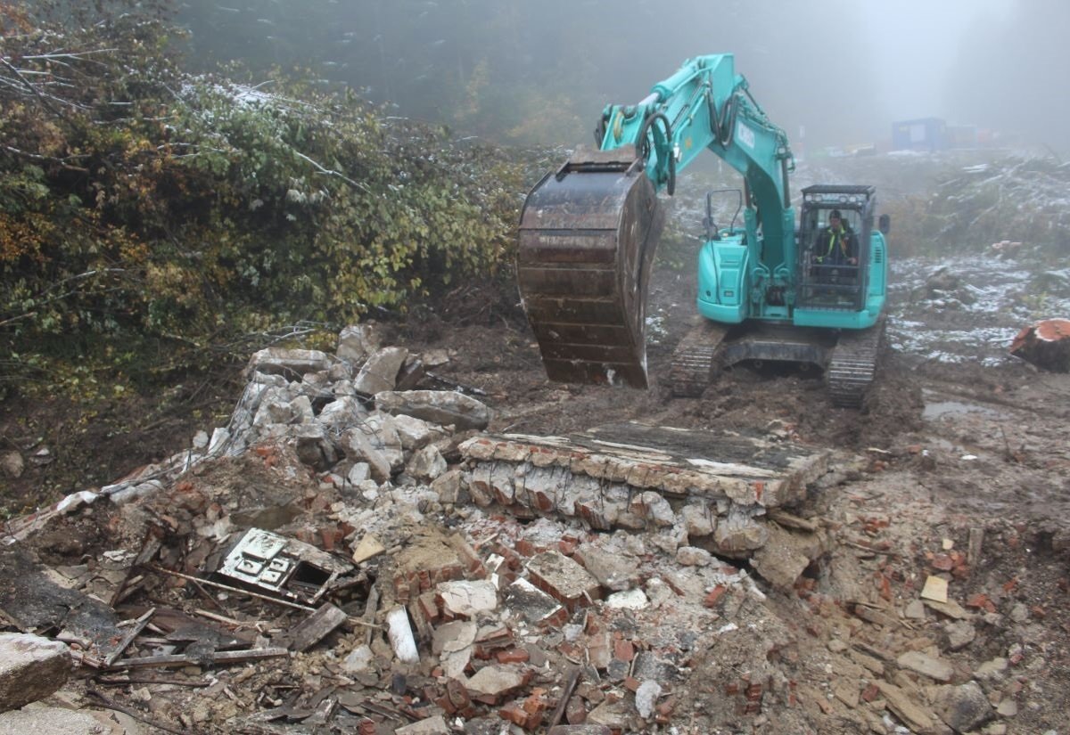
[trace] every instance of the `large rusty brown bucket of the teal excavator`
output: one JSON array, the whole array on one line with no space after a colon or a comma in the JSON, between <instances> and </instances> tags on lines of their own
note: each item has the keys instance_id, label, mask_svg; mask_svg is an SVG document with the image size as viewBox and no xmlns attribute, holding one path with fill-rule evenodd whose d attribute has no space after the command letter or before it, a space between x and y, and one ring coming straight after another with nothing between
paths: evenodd
<instances>
[{"instance_id":1,"label":"large rusty brown bucket of the teal excavator","mask_svg":"<svg viewBox=\"0 0 1070 735\"><path fill-rule=\"evenodd\" d=\"M646 388L646 292L664 213L635 146L577 151L520 218L520 295L546 374Z\"/></svg>"}]
</instances>

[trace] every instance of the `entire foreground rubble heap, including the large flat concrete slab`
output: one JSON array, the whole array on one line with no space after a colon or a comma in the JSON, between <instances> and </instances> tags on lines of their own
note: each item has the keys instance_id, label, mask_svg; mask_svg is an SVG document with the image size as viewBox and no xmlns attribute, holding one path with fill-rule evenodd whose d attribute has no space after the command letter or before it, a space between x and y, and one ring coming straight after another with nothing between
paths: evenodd
<instances>
[{"instance_id":1,"label":"entire foreground rubble heap, including the large flat concrete slab","mask_svg":"<svg viewBox=\"0 0 1070 735\"><path fill-rule=\"evenodd\" d=\"M888 453L486 434L448 359L258 353L227 426L10 521L0 733L1013 732L1041 612L966 584L998 534L917 562L841 491Z\"/></svg>"}]
</instances>

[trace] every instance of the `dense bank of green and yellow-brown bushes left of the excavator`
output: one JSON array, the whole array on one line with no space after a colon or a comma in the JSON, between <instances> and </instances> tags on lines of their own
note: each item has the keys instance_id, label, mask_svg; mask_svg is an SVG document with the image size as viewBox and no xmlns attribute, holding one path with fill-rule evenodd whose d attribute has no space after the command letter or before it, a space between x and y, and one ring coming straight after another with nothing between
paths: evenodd
<instances>
[{"instance_id":1,"label":"dense bank of green and yellow-brown bushes left of the excavator","mask_svg":"<svg viewBox=\"0 0 1070 735\"><path fill-rule=\"evenodd\" d=\"M510 262L502 151L301 75L192 76L160 11L102 12L0 1L0 390L121 385Z\"/></svg>"}]
</instances>

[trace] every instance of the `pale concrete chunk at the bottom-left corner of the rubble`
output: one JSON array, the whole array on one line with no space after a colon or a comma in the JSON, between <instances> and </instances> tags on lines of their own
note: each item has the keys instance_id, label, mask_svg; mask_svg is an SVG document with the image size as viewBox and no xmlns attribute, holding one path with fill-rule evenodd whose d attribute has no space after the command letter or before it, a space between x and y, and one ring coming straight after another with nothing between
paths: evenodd
<instances>
[{"instance_id":1,"label":"pale concrete chunk at the bottom-left corner of the rubble","mask_svg":"<svg viewBox=\"0 0 1070 735\"><path fill-rule=\"evenodd\" d=\"M71 674L71 650L27 634L0 634L0 711L43 700Z\"/></svg>"}]
</instances>

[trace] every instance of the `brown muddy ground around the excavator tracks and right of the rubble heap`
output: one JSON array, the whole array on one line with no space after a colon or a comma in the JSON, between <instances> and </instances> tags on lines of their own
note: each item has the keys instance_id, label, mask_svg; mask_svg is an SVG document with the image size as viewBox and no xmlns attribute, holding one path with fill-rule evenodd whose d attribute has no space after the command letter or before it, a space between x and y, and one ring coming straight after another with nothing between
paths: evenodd
<instances>
[{"instance_id":1,"label":"brown muddy ground around the excavator tracks and right of the rubble heap","mask_svg":"<svg viewBox=\"0 0 1070 735\"><path fill-rule=\"evenodd\" d=\"M914 260L903 267L917 271L916 280L941 265ZM992 272L1006 270L1004 265ZM982 273L970 278L973 286L985 286ZM823 519L841 543L809 570L812 583L797 595L769 597L791 634L798 686L810 694L808 726L854 733L872 725L884 732L869 716L859 717L857 705L835 695L843 679L867 673L838 653L839 641L859 634L852 603L901 613L929 575L943 575L953 597L967 606L976 632L968 645L950 648L954 621L932 610L873 634L868 645L885 652L890 669L904 651L938 652L953 660L954 683L969 681L985 662L1007 659L1009 668L994 684L985 682L985 693L1009 717L996 716L984 732L1065 732L1070 376L1009 358L1006 343L985 337L1000 320L1004 331L1012 329L1013 314L970 313L899 288L891 346L863 411L831 408L820 375L777 366L737 366L701 398L675 398L659 378L692 318L692 298L685 276L655 277L651 312L659 317L660 333L648 351L655 387L645 392L547 382L524 326L505 318L467 327L430 319L400 329L398 341L450 349L450 378L486 392L495 409L492 431L564 434L618 420L739 432L774 427L793 440L839 450L838 473L799 512ZM911 325L924 325L928 332L918 344L911 342L920 337L910 333ZM981 551L967 563L972 534L982 538ZM869 631L860 632L865 638ZM907 686L935 686L923 675L904 676ZM717 686L710 684L710 695ZM685 693L691 694L706 695ZM742 720L739 732L752 725ZM768 732L786 731L775 725Z\"/></svg>"}]
</instances>

